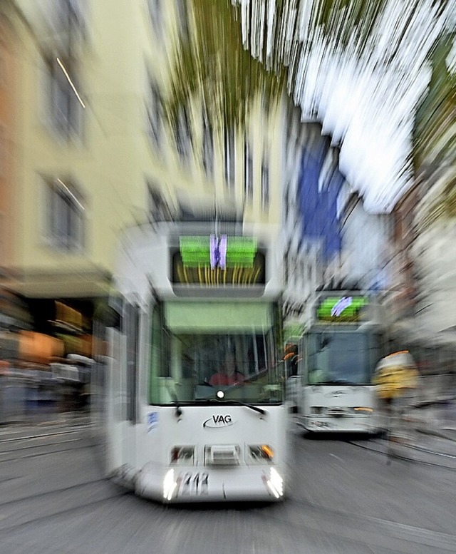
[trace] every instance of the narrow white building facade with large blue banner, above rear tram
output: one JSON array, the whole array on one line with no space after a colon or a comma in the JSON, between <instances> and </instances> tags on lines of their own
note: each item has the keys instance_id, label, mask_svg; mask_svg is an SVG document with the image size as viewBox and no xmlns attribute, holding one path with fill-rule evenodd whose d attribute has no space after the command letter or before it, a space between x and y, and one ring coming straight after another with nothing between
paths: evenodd
<instances>
[{"instance_id":1,"label":"narrow white building facade with large blue banner, above rear tram","mask_svg":"<svg viewBox=\"0 0 456 554\"><path fill-rule=\"evenodd\" d=\"M299 108L290 111L292 123L284 143L284 313L287 333L293 335L311 321L318 289L340 275L337 199L346 183L338 148L319 123L301 123L298 112Z\"/></svg>"}]
</instances>

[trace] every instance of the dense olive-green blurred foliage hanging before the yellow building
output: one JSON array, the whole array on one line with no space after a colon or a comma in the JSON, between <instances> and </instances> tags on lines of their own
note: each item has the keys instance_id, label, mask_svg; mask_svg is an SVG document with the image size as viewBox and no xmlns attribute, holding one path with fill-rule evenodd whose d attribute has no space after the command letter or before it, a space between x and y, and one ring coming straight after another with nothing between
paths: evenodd
<instances>
[{"instance_id":1,"label":"dense olive-green blurred foliage hanging before the yellow building","mask_svg":"<svg viewBox=\"0 0 456 554\"><path fill-rule=\"evenodd\" d=\"M276 101L286 90L286 69L267 71L243 47L239 6L230 0L190 0L192 32L180 34L165 111L174 125L180 109L199 97L211 125L234 128L252 101Z\"/></svg>"}]
</instances>

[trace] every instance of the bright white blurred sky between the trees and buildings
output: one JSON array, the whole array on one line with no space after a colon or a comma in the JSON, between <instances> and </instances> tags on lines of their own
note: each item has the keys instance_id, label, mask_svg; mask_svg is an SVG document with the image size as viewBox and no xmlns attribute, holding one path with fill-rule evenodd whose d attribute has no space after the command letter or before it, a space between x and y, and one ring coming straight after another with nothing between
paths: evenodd
<instances>
[{"instance_id":1,"label":"bright white blurred sky between the trees and buildings","mask_svg":"<svg viewBox=\"0 0 456 554\"><path fill-rule=\"evenodd\" d=\"M237 1L244 6L243 29L249 2L266 6L266 0ZM289 36L297 19L301 41L311 38L314 44L296 58L298 72L296 81L289 83L289 93L301 106L303 118L316 113L323 131L341 146L341 170L363 195L366 210L388 212L413 183L407 160L415 106L430 77L427 53L440 31L455 28L456 0L449 0L440 16L432 0L388 1L369 48L361 54L354 40L344 49L337 41L311 30L311 2L289 0L284 35ZM300 9L294 9L298 4ZM257 24L261 16L264 24L273 24L275 0L269 0L267 8L269 11L254 11ZM394 63L386 63L399 40L399 56ZM252 41L244 42L244 46L252 53L257 51ZM268 44L269 50L273 47ZM286 60L293 45L284 41L281 48ZM455 56L447 62L454 67Z\"/></svg>"}]
</instances>

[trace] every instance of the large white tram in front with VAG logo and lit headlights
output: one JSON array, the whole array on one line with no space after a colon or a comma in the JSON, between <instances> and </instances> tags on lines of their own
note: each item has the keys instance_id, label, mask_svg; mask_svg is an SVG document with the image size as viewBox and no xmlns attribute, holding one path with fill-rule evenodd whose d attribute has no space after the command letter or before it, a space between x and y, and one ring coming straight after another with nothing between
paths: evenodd
<instances>
[{"instance_id":1,"label":"large white tram in front with VAG logo and lit headlights","mask_svg":"<svg viewBox=\"0 0 456 554\"><path fill-rule=\"evenodd\" d=\"M279 256L219 227L130 230L110 301L108 475L166 503L284 498Z\"/></svg>"}]
</instances>

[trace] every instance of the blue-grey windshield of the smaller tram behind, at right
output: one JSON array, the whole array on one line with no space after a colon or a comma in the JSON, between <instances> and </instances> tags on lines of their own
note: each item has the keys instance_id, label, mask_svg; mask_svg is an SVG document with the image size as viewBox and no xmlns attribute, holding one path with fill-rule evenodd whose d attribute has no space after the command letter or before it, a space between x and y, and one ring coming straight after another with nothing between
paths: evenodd
<instances>
[{"instance_id":1,"label":"blue-grey windshield of the smaller tram behind, at right","mask_svg":"<svg viewBox=\"0 0 456 554\"><path fill-rule=\"evenodd\" d=\"M371 384L380 358L378 337L356 331L311 333L306 348L309 384Z\"/></svg>"}]
</instances>

